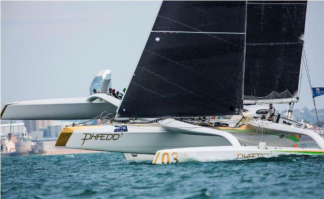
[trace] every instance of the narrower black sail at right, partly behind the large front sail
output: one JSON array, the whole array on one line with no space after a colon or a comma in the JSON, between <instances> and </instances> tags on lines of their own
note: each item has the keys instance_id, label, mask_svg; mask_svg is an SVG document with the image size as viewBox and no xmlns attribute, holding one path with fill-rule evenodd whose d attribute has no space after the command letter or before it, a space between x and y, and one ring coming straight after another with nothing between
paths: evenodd
<instances>
[{"instance_id":1,"label":"narrower black sail at right, partly behind the large front sail","mask_svg":"<svg viewBox=\"0 0 324 199\"><path fill-rule=\"evenodd\" d=\"M296 98L307 1L248 1L244 103Z\"/></svg>"}]
</instances>

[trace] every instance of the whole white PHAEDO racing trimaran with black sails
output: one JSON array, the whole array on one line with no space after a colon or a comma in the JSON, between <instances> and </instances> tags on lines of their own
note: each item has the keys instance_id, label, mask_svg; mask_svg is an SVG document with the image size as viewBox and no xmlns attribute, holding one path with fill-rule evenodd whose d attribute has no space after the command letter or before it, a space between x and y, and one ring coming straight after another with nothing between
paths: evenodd
<instances>
[{"instance_id":1,"label":"whole white PHAEDO racing trimaran with black sails","mask_svg":"<svg viewBox=\"0 0 324 199\"><path fill-rule=\"evenodd\" d=\"M323 155L320 135L289 115L265 119L262 105L298 101L306 6L163 1L121 101L99 93L15 102L1 118L101 118L63 128L56 146L154 164ZM303 138L315 144L298 145Z\"/></svg>"}]
</instances>

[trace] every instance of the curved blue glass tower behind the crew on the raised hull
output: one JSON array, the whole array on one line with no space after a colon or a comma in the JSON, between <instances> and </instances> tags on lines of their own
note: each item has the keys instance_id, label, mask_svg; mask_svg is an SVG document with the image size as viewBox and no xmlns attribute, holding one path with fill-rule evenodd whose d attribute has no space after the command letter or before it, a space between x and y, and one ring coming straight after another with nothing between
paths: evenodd
<instances>
[{"instance_id":1,"label":"curved blue glass tower behind the crew on the raised hull","mask_svg":"<svg viewBox=\"0 0 324 199\"><path fill-rule=\"evenodd\" d=\"M107 87L105 86L106 90L101 90L105 80L109 80L109 84ZM90 95L92 95L93 89L107 93L107 89L109 88L111 88L111 71L109 69L101 70L91 82Z\"/></svg>"}]
</instances>

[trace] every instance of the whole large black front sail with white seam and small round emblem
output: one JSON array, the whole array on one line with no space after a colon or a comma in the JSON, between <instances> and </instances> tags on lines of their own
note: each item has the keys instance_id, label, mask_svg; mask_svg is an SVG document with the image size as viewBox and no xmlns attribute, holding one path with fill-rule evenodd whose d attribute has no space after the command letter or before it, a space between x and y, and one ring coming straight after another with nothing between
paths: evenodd
<instances>
[{"instance_id":1,"label":"whole large black front sail with white seam and small round emblem","mask_svg":"<svg viewBox=\"0 0 324 199\"><path fill-rule=\"evenodd\" d=\"M246 1L163 1L120 117L233 114L242 108Z\"/></svg>"}]
</instances>

